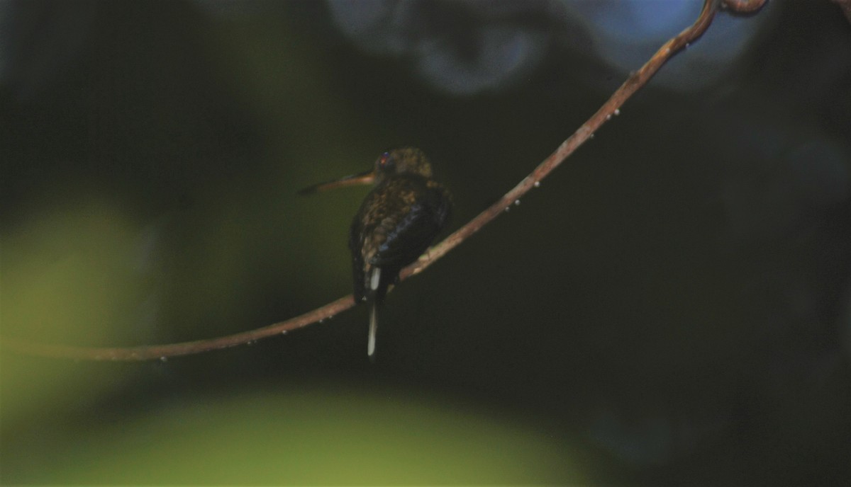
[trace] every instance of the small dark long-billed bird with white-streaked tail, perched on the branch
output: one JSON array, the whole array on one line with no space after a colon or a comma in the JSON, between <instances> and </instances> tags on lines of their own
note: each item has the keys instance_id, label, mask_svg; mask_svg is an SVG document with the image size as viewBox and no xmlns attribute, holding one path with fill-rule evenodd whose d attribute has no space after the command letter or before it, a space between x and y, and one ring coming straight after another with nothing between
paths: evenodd
<instances>
[{"instance_id":1,"label":"small dark long-billed bird with white-streaked tail, perched on the branch","mask_svg":"<svg viewBox=\"0 0 851 487\"><path fill-rule=\"evenodd\" d=\"M369 305L367 355L373 360L378 306L399 271L443 229L452 202L448 190L432 178L429 158L414 147L387 150L371 170L314 184L300 194L355 184L374 184L349 229L355 302Z\"/></svg>"}]
</instances>

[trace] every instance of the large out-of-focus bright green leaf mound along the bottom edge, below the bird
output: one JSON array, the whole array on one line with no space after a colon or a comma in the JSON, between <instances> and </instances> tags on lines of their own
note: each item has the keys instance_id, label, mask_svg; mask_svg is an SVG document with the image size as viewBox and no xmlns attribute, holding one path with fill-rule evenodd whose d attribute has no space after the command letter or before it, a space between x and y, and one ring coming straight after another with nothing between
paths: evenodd
<instances>
[{"instance_id":1,"label":"large out-of-focus bright green leaf mound along the bottom edge, below the bird","mask_svg":"<svg viewBox=\"0 0 851 487\"><path fill-rule=\"evenodd\" d=\"M325 382L199 397L53 448L50 462L10 452L4 483L584 482L569 445L530 425L422 392Z\"/></svg>"}]
</instances>

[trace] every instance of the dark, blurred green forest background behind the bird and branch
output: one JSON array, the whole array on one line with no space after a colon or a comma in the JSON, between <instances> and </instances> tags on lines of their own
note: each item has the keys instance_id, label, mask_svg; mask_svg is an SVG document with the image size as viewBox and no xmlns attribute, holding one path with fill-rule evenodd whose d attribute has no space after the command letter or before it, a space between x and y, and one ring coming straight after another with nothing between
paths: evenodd
<instances>
[{"instance_id":1,"label":"dark, blurred green forest background behind the bird and branch","mask_svg":"<svg viewBox=\"0 0 851 487\"><path fill-rule=\"evenodd\" d=\"M296 191L400 144L464 224L625 78L544 4L406 20L471 63L470 25L555 39L522 76L451 93L325 3L7 3L3 337L173 343L343 296L366 190ZM4 349L0 480L851 483L851 25L829 2L740 21L760 15L723 76L662 77L707 36L392 292L375 364L363 308L138 364Z\"/></svg>"}]
</instances>

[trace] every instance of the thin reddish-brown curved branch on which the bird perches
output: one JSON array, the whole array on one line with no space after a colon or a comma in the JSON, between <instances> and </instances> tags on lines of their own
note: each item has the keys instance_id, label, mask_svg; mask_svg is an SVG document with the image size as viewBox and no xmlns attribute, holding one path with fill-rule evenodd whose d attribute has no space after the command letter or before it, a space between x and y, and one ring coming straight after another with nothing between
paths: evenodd
<instances>
[{"instance_id":1,"label":"thin reddish-brown curved branch on which the bird perches","mask_svg":"<svg viewBox=\"0 0 851 487\"><path fill-rule=\"evenodd\" d=\"M727 0L731 2L732 0ZM757 0L763 1L764 0ZM715 17L718 6L722 0L705 0L700 16L694 21L694 24L688 29L681 32L677 37L656 51L656 54L645 63L640 70L631 73L624 84L615 91L612 96L597 110L597 113L591 116L576 132L565 140L558 148L534 171L526 178L517 184L513 189L505 193L499 201L488 207L483 212L479 213L476 218L471 219L467 224L460 229L454 231L444 241L432 247L425 255L420 257L416 262L408 265L399 273L399 280L405 280L412 275L419 274L426 267L435 263L439 258L446 255L447 252L454 249L462 241L465 241L471 235L475 234L485 224L493 221L498 217L505 208L510 207L515 201L518 201L529 190L539 184L540 180L545 178L556 167L574 153L580 145L586 140L591 139L591 136L603 126L605 122L610 120L612 116L618 115L620 107L634 93L642 88L651 77L659 71L660 67L665 64L668 59L674 54L677 54L688 43L694 42L698 37L702 36L706 29ZM77 360L153 360L164 359L166 357L174 357L178 355L197 354L216 350L220 348L234 347L243 343L251 343L261 338L271 337L292 331L303 326L311 325L320 320L326 320L340 314L340 312L350 309L355 305L354 298L350 295L340 297L333 303L328 303L325 306L314 309L306 314L301 314L290 320L281 321L270 326L264 326L252 331L243 331L226 337L211 338L208 340L197 340L194 342L172 343L168 345L151 345L143 347L130 348L91 348L91 347L71 347L66 345L49 345L43 343L26 343L20 340L3 338L0 340L0 346L9 348L26 354L35 354L56 358L67 358Z\"/></svg>"}]
</instances>

